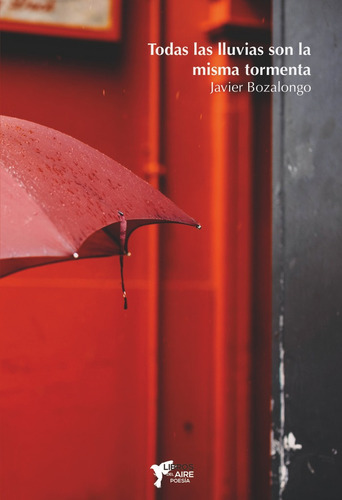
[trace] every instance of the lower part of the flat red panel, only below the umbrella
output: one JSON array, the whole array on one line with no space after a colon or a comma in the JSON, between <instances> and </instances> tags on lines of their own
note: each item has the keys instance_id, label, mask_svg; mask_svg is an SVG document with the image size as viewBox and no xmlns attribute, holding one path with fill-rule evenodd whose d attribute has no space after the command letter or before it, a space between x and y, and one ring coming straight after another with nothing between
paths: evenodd
<instances>
[{"instance_id":1,"label":"lower part of the flat red panel, only below the umbrella","mask_svg":"<svg viewBox=\"0 0 342 500\"><path fill-rule=\"evenodd\" d=\"M1 496L138 498L146 290L131 289L123 312L112 280L83 283L63 267L61 279L46 268L44 280L1 281ZM132 461L135 480L122 481Z\"/></svg>"}]
</instances>

